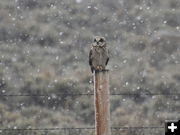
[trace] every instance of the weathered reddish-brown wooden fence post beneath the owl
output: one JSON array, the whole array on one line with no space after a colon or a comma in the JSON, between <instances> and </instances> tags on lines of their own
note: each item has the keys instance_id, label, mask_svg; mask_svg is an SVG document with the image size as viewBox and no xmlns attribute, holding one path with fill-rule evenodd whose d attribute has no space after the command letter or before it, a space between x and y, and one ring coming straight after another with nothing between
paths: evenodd
<instances>
[{"instance_id":1,"label":"weathered reddish-brown wooden fence post beneath the owl","mask_svg":"<svg viewBox=\"0 0 180 135\"><path fill-rule=\"evenodd\" d=\"M109 70L94 72L95 135L111 135Z\"/></svg>"}]
</instances>

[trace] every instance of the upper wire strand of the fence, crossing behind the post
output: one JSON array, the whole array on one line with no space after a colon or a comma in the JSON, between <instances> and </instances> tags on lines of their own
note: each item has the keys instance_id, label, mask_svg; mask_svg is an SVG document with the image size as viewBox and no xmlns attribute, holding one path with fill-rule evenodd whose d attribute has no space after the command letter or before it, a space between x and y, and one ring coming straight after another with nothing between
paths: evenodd
<instances>
[{"instance_id":1,"label":"upper wire strand of the fence, crossing behind the post","mask_svg":"<svg viewBox=\"0 0 180 135\"><path fill-rule=\"evenodd\" d=\"M180 93L111 93L110 96L180 96ZM94 96L94 93L0 94L0 97Z\"/></svg>"}]
</instances>

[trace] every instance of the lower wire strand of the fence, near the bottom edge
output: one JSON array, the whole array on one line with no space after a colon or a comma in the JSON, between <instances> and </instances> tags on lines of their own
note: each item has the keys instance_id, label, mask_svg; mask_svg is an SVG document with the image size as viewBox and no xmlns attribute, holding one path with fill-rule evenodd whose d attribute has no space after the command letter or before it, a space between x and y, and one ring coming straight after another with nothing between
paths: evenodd
<instances>
[{"instance_id":1,"label":"lower wire strand of the fence, near the bottom edge","mask_svg":"<svg viewBox=\"0 0 180 135\"><path fill-rule=\"evenodd\" d=\"M112 130L121 130L121 129L164 129L164 126L150 126L150 127L129 127L129 126L121 126L121 127L111 127ZM95 127L66 127L66 128L0 128L0 131L53 131L53 130L95 130Z\"/></svg>"}]
</instances>

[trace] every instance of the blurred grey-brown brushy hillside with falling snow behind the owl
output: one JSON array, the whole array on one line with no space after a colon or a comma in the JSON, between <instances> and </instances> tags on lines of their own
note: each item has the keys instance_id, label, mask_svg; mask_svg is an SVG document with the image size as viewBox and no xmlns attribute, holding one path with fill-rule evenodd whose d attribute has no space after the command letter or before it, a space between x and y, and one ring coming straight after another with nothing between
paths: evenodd
<instances>
[{"instance_id":1,"label":"blurred grey-brown brushy hillside with falling snow behind the owl","mask_svg":"<svg viewBox=\"0 0 180 135\"><path fill-rule=\"evenodd\" d=\"M47 96L0 96L0 127L94 127L92 95L58 95L93 93L94 36L104 36L111 52L110 92L140 94L110 96L112 127L180 118L180 96L171 95L180 93L179 7L179 0L1 0L0 94Z\"/></svg>"}]
</instances>

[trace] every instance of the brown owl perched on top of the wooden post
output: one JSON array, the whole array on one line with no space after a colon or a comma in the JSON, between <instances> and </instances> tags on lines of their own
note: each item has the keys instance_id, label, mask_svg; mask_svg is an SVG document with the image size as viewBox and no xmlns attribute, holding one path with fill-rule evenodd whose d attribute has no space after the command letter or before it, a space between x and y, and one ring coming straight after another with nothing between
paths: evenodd
<instances>
[{"instance_id":1,"label":"brown owl perched on top of the wooden post","mask_svg":"<svg viewBox=\"0 0 180 135\"><path fill-rule=\"evenodd\" d=\"M92 73L105 70L109 61L109 50L104 37L96 36L89 52L89 65Z\"/></svg>"}]
</instances>

